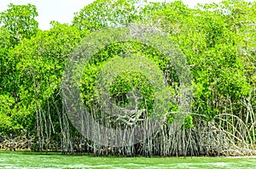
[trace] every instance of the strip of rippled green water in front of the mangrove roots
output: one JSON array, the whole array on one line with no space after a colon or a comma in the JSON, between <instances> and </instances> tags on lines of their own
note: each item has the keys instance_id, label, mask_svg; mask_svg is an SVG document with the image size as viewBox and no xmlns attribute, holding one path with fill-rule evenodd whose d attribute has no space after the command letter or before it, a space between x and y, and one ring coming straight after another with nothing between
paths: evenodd
<instances>
[{"instance_id":1,"label":"strip of rippled green water in front of the mangrove roots","mask_svg":"<svg viewBox=\"0 0 256 169\"><path fill-rule=\"evenodd\" d=\"M0 152L0 168L256 168L255 157L93 157Z\"/></svg>"}]
</instances>

